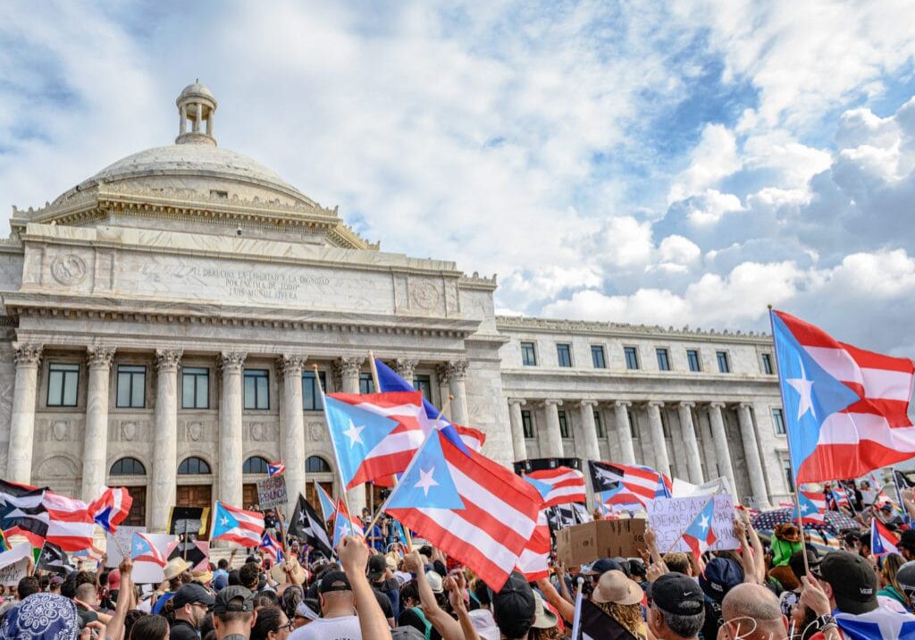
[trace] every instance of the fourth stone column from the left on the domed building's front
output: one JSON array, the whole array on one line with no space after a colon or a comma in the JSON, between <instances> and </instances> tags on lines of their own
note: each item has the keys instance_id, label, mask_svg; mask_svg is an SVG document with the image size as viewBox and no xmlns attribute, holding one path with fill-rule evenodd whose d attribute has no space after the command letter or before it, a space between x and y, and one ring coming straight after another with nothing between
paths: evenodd
<instances>
[{"instance_id":1,"label":"fourth stone column from the left on the domed building's front","mask_svg":"<svg viewBox=\"0 0 915 640\"><path fill-rule=\"evenodd\" d=\"M220 461L219 491L216 499L227 504L242 504L242 466L244 429L242 411L244 390L242 371L247 353L222 352L219 358L220 383ZM301 405L300 405L301 407Z\"/></svg>"}]
</instances>

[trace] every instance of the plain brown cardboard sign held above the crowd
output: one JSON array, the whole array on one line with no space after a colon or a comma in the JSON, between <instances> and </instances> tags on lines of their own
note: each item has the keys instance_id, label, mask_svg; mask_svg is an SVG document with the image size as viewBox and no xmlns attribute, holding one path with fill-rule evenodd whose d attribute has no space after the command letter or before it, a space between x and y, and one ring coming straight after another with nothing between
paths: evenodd
<instances>
[{"instance_id":1,"label":"plain brown cardboard sign held above the crowd","mask_svg":"<svg viewBox=\"0 0 915 640\"><path fill-rule=\"evenodd\" d=\"M645 548L645 520L597 520L556 531L556 558L567 567L599 558L638 558Z\"/></svg>"}]
</instances>

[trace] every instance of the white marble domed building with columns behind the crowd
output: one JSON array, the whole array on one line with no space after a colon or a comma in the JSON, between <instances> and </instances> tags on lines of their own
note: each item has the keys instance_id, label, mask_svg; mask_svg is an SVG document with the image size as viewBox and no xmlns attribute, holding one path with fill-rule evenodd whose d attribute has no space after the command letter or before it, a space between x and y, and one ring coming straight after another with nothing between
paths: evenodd
<instances>
[{"instance_id":1,"label":"white marble domed building with columns behind the crowd","mask_svg":"<svg viewBox=\"0 0 915 640\"><path fill-rule=\"evenodd\" d=\"M336 485L312 367L330 391L367 391L372 349L433 402L454 395L452 417L503 463L639 461L786 494L767 336L497 317L494 277L382 252L216 146L205 87L177 104L174 145L14 208L0 476L82 498L131 487L131 521L154 530L176 501L253 502L265 461L291 486Z\"/></svg>"}]
</instances>

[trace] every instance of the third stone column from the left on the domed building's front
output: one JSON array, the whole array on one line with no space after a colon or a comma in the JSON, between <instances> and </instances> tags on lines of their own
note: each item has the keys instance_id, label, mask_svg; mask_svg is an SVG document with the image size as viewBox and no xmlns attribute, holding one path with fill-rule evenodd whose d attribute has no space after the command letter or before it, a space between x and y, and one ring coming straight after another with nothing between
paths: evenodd
<instances>
[{"instance_id":1,"label":"third stone column from the left on the domed building's front","mask_svg":"<svg viewBox=\"0 0 915 640\"><path fill-rule=\"evenodd\" d=\"M156 350L156 426L154 428L152 515L150 517L153 532L167 530L168 512L175 504L175 484L178 480L178 362L180 360L180 350ZM216 499L226 500L221 495L217 495Z\"/></svg>"}]
</instances>

